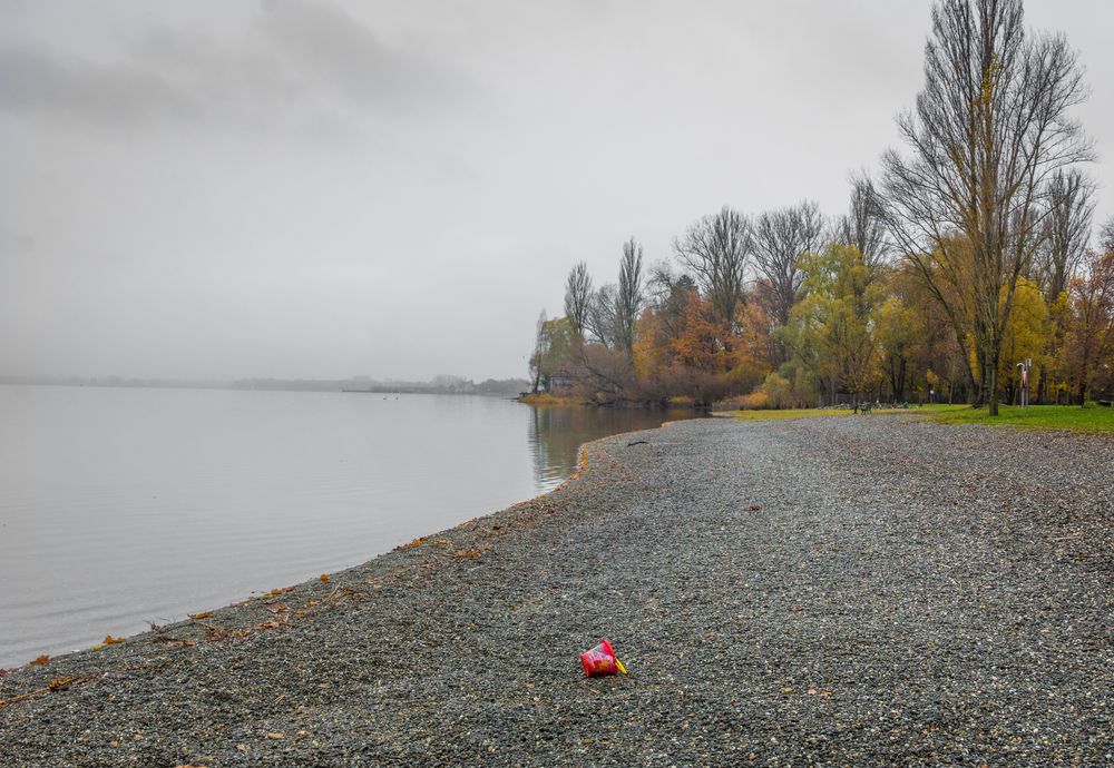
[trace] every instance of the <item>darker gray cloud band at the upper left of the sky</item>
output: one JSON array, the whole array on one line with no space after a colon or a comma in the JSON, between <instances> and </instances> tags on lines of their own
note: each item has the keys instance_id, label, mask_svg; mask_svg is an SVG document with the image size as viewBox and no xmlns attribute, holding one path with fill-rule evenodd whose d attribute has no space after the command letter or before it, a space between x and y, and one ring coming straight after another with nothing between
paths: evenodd
<instances>
[{"instance_id":1,"label":"darker gray cloud band at the upper left of the sky","mask_svg":"<svg viewBox=\"0 0 1114 768\"><path fill-rule=\"evenodd\" d=\"M0 41L0 110L113 127L428 115L468 90L326 2L264 2L235 33L159 28L115 58Z\"/></svg>"}]
</instances>

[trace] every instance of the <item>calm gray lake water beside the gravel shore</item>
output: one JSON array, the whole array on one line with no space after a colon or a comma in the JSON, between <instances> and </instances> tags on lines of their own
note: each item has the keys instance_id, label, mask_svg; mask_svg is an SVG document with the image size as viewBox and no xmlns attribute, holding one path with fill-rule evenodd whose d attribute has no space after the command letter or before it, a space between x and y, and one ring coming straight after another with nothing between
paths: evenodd
<instances>
[{"instance_id":1,"label":"calm gray lake water beside the gravel shore","mask_svg":"<svg viewBox=\"0 0 1114 768\"><path fill-rule=\"evenodd\" d=\"M0 667L304 581L548 491L691 412L0 386Z\"/></svg>"}]
</instances>

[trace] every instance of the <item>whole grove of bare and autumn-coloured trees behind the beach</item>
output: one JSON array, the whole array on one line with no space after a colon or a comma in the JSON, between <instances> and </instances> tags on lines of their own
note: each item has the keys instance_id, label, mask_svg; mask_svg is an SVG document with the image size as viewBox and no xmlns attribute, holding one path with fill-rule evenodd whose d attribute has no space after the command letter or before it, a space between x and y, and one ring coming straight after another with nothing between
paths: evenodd
<instances>
[{"instance_id":1,"label":"whole grove of bare and autumn-coloured trees behind the beach","mask_svg":"<svg viewBox=\"0 0 1114 768\"><path fill-rule=\"evenodd\" d=\"M751 406L971 402L997 412L1114 391L1114 218L1092 243L1082 68L1022 0L940 0L905 150L852 178L846 214L809 200L694 221L617 280L569 272L537 325L532 388ZM1094 247L1092 247L1094 245Z\"/></svg>"}]
</instances>

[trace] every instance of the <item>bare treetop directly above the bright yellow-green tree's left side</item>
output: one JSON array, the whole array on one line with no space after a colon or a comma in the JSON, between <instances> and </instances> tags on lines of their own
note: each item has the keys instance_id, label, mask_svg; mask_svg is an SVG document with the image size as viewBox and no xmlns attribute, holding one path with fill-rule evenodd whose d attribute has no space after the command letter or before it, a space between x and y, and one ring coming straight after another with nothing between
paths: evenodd
<instances>
[{"instance_id":1,"label":"bare treetop directly above the bright yellow-green tree's left side","mask_svg":"<svg viewBox=\"0 0 1114 768\"><path fill-rule=\"evenodd\" d=\"M813 201L764 213L754 224L754 266L762 279L759 295L779 325L801 296L802 254L822 249L824 219Z\"/></svg>"}]
</instances>

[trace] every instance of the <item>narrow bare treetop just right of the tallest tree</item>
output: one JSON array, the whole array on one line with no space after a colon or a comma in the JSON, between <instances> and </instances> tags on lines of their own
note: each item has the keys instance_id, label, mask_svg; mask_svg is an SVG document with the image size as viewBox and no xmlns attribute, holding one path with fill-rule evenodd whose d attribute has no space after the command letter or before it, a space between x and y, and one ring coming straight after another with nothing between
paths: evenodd
<instances>
[{"instance_id":1,"label":"narrow bare treetop just right of the tallest tree","mask_svg":"<svg viewBox=\"0 0 1114 768\"><path fill-rule=\"evenodd\" d=\"M1056 171L1047 186L1047 239L1037 256L1036 272L1045 298L1056 301L1078 269L1091 239L1095 185L1072 168Z\"/></svg>"}]
</instances>

